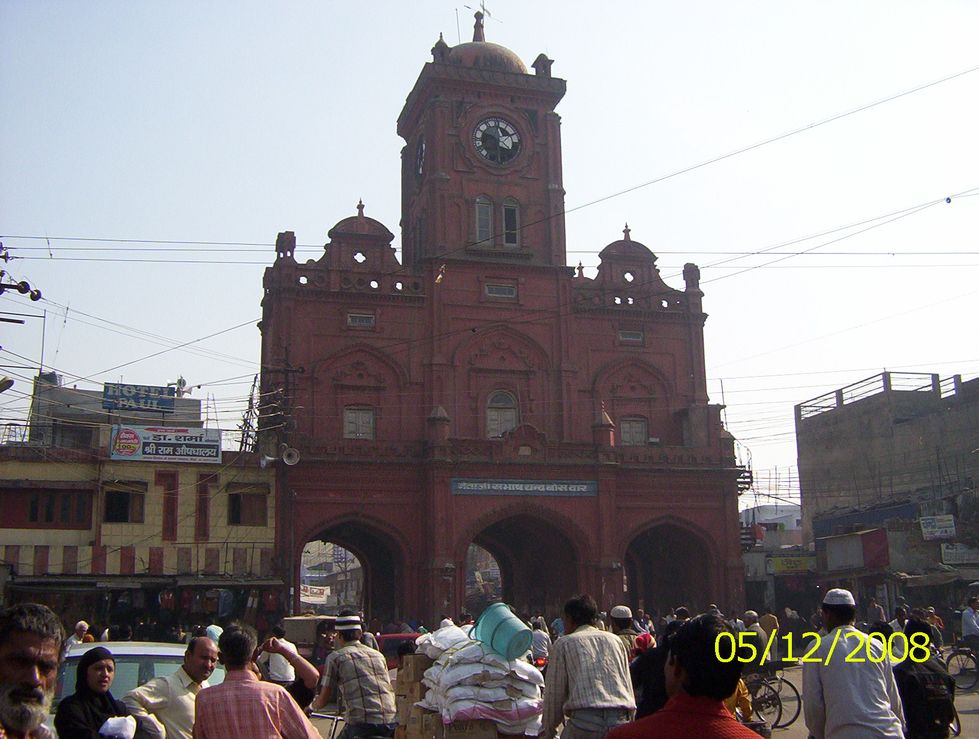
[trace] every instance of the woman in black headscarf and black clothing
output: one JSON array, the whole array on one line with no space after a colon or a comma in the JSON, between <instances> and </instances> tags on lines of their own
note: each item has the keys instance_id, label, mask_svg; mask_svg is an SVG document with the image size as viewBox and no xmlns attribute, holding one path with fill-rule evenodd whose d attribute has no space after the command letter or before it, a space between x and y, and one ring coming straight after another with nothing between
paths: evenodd
<instances>
[{"instance_id":1,"label":"woman in black headscarf and black clothing","mask_svg":"<svg viewBox=\"0 0 979 739\"><path fill-rule=\"evenodd\" d=\"M61 701L54 717L59 739L100 739L99 729L107 719L129 715L126 706L109 692L115 675L115 657L105 647L89 649L82 655L75 692Z\"/></svg>"}]
</instances>

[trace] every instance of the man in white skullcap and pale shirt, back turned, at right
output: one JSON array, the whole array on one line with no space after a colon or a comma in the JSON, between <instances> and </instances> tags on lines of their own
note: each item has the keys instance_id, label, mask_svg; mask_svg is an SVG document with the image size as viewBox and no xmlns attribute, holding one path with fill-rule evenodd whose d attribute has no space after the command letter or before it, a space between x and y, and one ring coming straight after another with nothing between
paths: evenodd
<instances>
[{"instance_id":1,"label":"man in white skullcap and pale shirt, back turned, at right","mask_svg":"<svg viewBox=\"0 0 979 739\"><path fill-rule=\"evenodd\" d=\"M904 711L887 648L853 626L849 590L833 588L820 608L826 634L802 667L802 704L814 739L904 739ZM857 653L862 661L847 659Z\"/></svg>"}]
</instances>

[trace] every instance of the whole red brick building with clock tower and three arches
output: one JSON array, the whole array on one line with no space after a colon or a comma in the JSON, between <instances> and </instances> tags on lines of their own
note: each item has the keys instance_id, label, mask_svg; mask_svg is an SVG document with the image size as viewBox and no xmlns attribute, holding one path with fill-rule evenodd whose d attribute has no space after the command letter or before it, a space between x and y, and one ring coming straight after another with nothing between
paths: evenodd
<instances>
[{"instance_id":1,"label":"whole red brick building with clock tower and three arches","mask_svg":"<svg viewBox=\"0 0 979 739\"><path fill-rule=\"evenodd\" d=\"M280 233L266 270L262 424L301 454L277 518L293 582L324 539L363 563L372 615L456 613L476 543L528 612L580 591L740 607L742 470L697 267L666 285L628 228L594 279L567 266L564 80L479 16L432 56L398 119L402 261L361 204L318 260Z\"/></svg>"}]
</instances>

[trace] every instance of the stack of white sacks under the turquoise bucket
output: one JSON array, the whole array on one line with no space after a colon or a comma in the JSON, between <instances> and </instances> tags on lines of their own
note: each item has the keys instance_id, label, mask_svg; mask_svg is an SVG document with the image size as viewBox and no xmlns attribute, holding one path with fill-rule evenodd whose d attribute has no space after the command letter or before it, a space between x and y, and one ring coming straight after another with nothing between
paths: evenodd
<instances>
[{"instance_id":1,"label":"stack of white sacks under the turquoise bucket","mask_svg":"<svg viewBox=\"0 0 979 739\"><path fill-rule=\"evenodd\" d=\"M418 704L442 714L446 724L486 719L501 734L537 736L541 728L544 676L524 660L506 660L458 626L418 639L419 651L435 660L422 682Z\"/></svg>"}]
</instances>

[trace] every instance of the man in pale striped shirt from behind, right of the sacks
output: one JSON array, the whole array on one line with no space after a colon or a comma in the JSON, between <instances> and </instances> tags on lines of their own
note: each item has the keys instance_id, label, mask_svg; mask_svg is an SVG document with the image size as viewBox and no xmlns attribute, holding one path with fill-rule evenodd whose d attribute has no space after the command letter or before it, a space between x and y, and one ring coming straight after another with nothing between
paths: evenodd
<instances>
[{"instance_id":1,"label":"man in pale striped shirt from behind, right of the sacks","mask_svg":"<svg viewBox=\"0 0 979 739\"><path fill-rule=\"evenodd\" d=\"M595 628L597 619L598 605L590 595L564 604L567 636L551 649L544 686L544 739L552 739L562 721L561 739L602 739L636 712L625 644Z\"/></svg>"}]
</instances>

